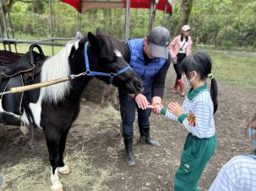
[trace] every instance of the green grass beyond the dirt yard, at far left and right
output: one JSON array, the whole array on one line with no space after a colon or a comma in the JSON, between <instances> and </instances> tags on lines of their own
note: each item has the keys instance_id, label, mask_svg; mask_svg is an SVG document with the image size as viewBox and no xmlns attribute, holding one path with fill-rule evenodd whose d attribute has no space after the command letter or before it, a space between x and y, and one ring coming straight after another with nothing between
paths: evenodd
<instances>
[{"instance_id":1,"label":"green grass beyond the dirt yard, at far left and right","mask_svg":"<svg viewBox=\"0 0 256 191\"><path fill-rule=\"evenodd\" d=\"M52 56L52 47L42 45L42 50L47 56ZM18 52L25 53L28 51L29 45L20 44L17 46ZM55 46L54 53L61 50L62 47ZM0 45L3 50L3 45ZM14 45L12 45L14 50ZM198 49L199 50L199 49ZM204 48L200 48L204 50ZM214 50L205 49L213 60L213 73L217 81L231 85L238 85L245 88L256 89L256 56L253 52L237 51L237 50Z\"/></svg>"}]
</instances>

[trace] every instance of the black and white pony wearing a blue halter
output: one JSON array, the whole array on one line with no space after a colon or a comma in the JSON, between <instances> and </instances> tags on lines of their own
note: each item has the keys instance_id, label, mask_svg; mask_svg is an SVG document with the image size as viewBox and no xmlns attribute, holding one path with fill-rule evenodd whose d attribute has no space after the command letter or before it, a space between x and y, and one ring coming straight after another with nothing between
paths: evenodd
<instances>
[{"instance_id":1,"label":"black and white pony wearing a blue halter","mask_svg":"<svg viewBox=\"0 0 256 191\"><path fill-rule=\"evenodd\" d=\"M87 43L87 50L84 45ZM73 81L41 88L37 103L30 103L30 109L35 118L35 125L40 127L46 135L46 144L52 166L52 190L63 190L58 172L68 174L70 169L63 162L68 130L79 114L80 97L86 84L92 76L102 81L123 88L128 93L140 93L142 83L139 76L123 58L124 44L112 36L97 31L96 35L88 33L82 40L69 42L57 55L45 61L41 70L41 82L46 82L70 74L85 72L87 76L75 78ZM88 54L87 66L85 58ZM85 57L84 57L85 56ZM95 73L93 73L95 72ZM90 73L90 74L89 74ZM86 116L84 116L86 118ZM26 115L21 119L28 123Z\"/></svg>"}]
</instances>

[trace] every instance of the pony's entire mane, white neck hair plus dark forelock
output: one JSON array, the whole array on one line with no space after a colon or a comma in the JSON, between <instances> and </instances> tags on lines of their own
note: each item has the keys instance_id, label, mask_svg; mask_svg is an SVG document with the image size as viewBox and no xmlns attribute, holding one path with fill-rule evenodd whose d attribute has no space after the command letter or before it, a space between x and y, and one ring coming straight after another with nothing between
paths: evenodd
<instances>
[{"instance_id":1,"label":"pony's entire mane, white neck hair plus dark forelock","mask_svg":"<svg viewBox=\"0 0 256 191\"><path fill-rule=\"evenodd\" d=\"M102 47L101 50L102 54L111 56L111 54L114 54L113 50L119 50L123 56L125 55L125 48L122 41L107 34L97 34L97 37L105 42L104 47ZM84 40L87 40L87 38L84 38L81 42ZM79 40L68 42L68 44L55 56L52 56L45 61L41 70L41 82L70 75L68 56L70 55L73 46L77 50L79 48ZM41 88L41 99L47 102L58 103L65 98L67 93L69 93L70 88L71 84L69 81Z\"/></svg>"}]
</instances>

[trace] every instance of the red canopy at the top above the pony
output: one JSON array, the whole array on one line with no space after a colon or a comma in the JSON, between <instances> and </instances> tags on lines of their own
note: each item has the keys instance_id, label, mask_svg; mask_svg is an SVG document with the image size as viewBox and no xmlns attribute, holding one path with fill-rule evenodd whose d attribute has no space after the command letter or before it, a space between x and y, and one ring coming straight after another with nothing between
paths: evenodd
<instances>
[{"instance_id":1,"label":"red canopy at the top above the pony","mask_svg":"<svg viewBox=\"0 0 256 191\"><path fill-rule=\"evenodd\" d=\"M102 0L102 1L84 1L84 0L61 0L76 8L80 13L92 8L125 8L126 0ZM156 1L157 2L157 1ZM173 0L159 0L156 9L172 14ZM131 0L131 8L150 8L150 0Z\"/></svg>"}]
</instances>

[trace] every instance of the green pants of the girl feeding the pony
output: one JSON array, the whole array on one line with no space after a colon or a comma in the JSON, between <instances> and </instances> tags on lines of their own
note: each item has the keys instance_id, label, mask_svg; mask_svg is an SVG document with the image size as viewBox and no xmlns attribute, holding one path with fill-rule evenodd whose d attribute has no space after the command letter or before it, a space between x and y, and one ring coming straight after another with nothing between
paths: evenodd
<instances>
[{"instance_id":1,"label":"green pants of the girl feeding the pony","mask_svg":"<svg viewBox=\"0 0 256 191\"><path fill-rule=\"evenodd\" d=\"M199 179L215 148L216 135L199 139L192 134L188 134L182 151L181 164L174 177L174 190L199 190Z\"/></svg>"}]
</instances>

